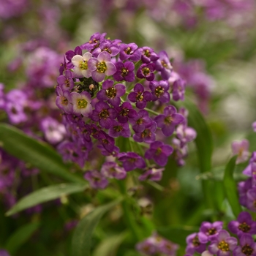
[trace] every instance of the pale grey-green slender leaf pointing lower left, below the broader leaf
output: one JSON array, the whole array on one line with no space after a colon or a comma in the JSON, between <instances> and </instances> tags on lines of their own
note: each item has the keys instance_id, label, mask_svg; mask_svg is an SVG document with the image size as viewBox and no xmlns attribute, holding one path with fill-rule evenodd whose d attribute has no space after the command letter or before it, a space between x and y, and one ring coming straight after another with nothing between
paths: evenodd
<instances>
[{"instance_id":1,"label":"pale grey-green slender leaf pointing lower left, below the broader leaf","mask_svg":"<svg viewBox=\"0 0 256 256\"><path fill-rule=\"evenodd\" d=\"M37 191L32 192L26 197L21 198L15 206L7 211L6 215L10 216L12 214L18 213L18 211L22 211L26 208L30 208L32 206L37 206L39 203L45 203L49 200L54 200L62 195L69 195L76 192L82 192L86 189L87 185L85 184L58 184L52 185L49 187L44 187L42 189L38 189Z\"/></svg>"}]
</instances>

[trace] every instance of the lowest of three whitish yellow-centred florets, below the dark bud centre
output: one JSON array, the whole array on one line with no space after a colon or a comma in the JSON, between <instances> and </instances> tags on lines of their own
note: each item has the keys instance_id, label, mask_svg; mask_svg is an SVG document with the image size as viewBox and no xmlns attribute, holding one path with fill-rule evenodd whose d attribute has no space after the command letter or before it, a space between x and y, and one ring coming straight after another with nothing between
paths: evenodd
<instances>
[{"instance_id":1,"label":"lowest of three whitish yellow-centred florets, below the dark bud centre","mask_svg":"<svg viewBox=\"0 0 256 256\"><path fill-rule=\"evenodd\" d=\"M83 91L80 94L73 91L70 95L70 101L72 103L73 113L76 115L90 116L92 113L91 108L91 95L87 91Z\"/></svg>"}]
</instances>

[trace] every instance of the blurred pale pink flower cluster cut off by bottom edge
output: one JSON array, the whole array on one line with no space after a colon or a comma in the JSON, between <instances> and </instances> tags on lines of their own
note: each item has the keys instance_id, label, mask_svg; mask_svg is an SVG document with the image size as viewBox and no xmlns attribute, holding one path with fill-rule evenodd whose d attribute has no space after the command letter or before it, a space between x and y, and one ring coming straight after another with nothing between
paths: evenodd
<instances>
[{"instance_id":1,"label":"blurred pale pink flower cluster cut off by bottom edge","mask_svg":"<svg viewBox=\"0 0 256 256\"><path fill-rule=\"evenodd\" d=\"M136 245L138 252L143 255L176 255L178 244L174 244L165 238L162 238L157 233L153 233L152 236L146 238L144 241Z\"/></svg>"}]
</instances>

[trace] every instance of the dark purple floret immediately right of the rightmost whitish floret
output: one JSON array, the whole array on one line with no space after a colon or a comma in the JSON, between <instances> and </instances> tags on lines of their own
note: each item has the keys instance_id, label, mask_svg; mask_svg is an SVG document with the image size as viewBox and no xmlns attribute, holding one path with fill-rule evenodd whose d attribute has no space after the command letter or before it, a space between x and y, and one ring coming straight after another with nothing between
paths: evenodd
<instances>
[{"instance_id":1,"label":"dark purple floret immediately right of the rightmost whitish floret","mask_svg":"<svg viewBox=\"0 0 256 256\"><path fill-rule=\"evenodd\" d=\"M125 80L127 82L132 82L135 80L135 74L133 70L135 69L135 64L133 64L132 61L126 61L126 62L121 62L118 61L116 62L116 73L113 75L113 78L116 81L122 81Z\"/></svg>"}]
</instances>

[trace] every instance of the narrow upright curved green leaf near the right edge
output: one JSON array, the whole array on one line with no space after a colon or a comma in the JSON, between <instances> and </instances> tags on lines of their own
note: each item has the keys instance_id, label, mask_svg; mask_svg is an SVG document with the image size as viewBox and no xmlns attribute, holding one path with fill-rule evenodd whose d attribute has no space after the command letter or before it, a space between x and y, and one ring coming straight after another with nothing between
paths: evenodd
<instances>
[{"instance_id":1,"label":"narrow upright curved green leaf near the right edge","mask_svg":"<svg viewBox=\"0 0 256 256\"><path fill-rule=\"evenodd\" d=\"M233 178L233 171L236 167L236 156L230 159L230 162L227 163L225 168L225 174L223 178L223 185L225 188L226 197L228 203L230 203L233 214L238 217L238 214L241 213L241 205L238 200L238 190L236 181Z\"/></svg>"}]
</instances>

